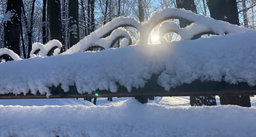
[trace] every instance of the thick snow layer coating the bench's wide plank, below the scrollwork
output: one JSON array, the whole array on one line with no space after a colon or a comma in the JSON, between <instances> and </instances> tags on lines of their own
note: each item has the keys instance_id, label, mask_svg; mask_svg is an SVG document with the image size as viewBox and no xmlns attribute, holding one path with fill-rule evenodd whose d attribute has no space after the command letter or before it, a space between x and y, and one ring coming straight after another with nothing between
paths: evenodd
<instances>
[{"instance_id":1,"label":"thick snow layer coating the bench's wide plank, below the scrollwork","mask_svg":"<svg viewBox=\"0 0 256 137\"><path fill-rule=\"evenodd\" d=\"M0 72L9 73L1 76L5 81L0 83L0 93L26 94L31 90L31 93L39 91L48 96L48 87L59 84L65 91L76 84L79 93L92 93L97 89L116 92L117 82L131 91L132 87L144 87L152 74L160 74L158 84L167 91L196 79L224 80L231 84L246 82L254 86L255 36L256 32L229 33L197 40L5 62L0 64Z\"/></svg>"}]
</instances>

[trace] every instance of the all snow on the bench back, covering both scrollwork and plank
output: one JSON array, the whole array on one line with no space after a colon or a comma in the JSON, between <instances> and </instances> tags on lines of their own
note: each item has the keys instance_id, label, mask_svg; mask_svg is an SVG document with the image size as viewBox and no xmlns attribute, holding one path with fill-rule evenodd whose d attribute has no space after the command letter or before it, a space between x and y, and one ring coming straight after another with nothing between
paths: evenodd
<instances>
[{"instance_id":1,"label":"all snow on the bench back, covering both scrollwork and plank","mask_svg":"<svg viewBox=\"0 0 256 137\"><path fill-rule=\"evenodd\" d=\"M168 19L184 19L193 23L180 29L176 23L165 21ZM162 37L168 31L176 32L180 35L180 41L166 42L160 38L160 44L148 44L151 30L161 22L159 35ZM127 47L131 45L131 38L121 26L132 26L140 32L134 46ZM207 33L220 36L190 40L196 35ZM14 58L17 61L0 63L0 93L26 95L30 90L33 94L39 91L49 96L51 93L48 87L60 84L65 92L72 85L76 85L79 93L92 93L97 89L116 92L116 83L125 86L130 92L132 87L144 87L152 74L160 74L158 84L167 91L196 79L224 80L231 84L246 82L254 86L255 36L255 30L184 9L159 10L144 23L134 18L119 17L84 37L62 54L56 55L62 47L54 40L46 45L34 44L31 53L40 49L41 57L23 60ZM120 47L125 48L111 48L120 37L123 38ZM105 50L83 52L94 46ZM55 56L43 57L52 48L58 49L54 50Z\"/></svg>"}]
</instances>

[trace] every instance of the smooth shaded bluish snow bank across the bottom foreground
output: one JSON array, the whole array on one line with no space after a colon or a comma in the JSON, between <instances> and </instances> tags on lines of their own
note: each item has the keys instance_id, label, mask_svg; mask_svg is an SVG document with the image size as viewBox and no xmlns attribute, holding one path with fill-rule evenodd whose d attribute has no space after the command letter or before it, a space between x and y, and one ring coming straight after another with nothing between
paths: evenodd
<instances>
[{"instance_id":1,"label":"smooth shaded bluish snow bank across the bottom foreground","mask_svg":"<svg viewBox=\"0 0 256 137\"><path fill-rule=\"evenodd\" d=\"M135 99L97 107L0 105L0 137L254 137L255 114L239 106L172 108Z\"/></svg>"}]
</instances>

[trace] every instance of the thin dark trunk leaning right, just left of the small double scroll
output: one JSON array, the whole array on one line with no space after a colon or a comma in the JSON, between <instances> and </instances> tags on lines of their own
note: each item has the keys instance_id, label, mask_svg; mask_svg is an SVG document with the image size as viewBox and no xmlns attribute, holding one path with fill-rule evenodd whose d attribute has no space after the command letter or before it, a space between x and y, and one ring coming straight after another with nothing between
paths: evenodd
<instances>
[{"instance_id":1,"label":"thin dark trunk leaning right, just left of the small double scroll","mask_svg":"<svg viewBox=\"0 0 256 137\"><path fill-rule=\"evenodd\" d=\"M31 9L31 15L30 15L30 26L29 26L29 32L27 33L27 37L28 37L27 58L30 58L30 52L32 50L32 33L33 33L35 1L36 0L33 0L33 2L32 2L32 9Z\"/></svg>"}]
</instances>

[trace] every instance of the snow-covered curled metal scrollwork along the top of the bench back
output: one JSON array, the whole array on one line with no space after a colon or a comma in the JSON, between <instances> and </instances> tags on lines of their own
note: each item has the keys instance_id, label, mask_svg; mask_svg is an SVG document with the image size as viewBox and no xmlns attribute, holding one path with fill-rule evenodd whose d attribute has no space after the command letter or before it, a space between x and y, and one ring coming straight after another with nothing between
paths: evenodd
<instances>
[{"instance_id":1,"label":"snow-covered curled metal scrollwork along the top of the bench back","mask_svg":"<svg viewBox=\"0 0 256 137\"><path fill-rule=\"evenodd\" d=\"M168 21L169 19L181 19L183 21L190 22L191 25L181 29L177 23ZM130 17L115 18L95 32L91 33L89 36L84 37L84 39L80 40L79 43L62 54L72 54L80 51L92 51L92 49L96 47L110 49L113 47L116 41L121 38L124 39L121 41L120 47L132 45L130 34L127 32L127 30L122 28L128 26L136 28L140 34L139 40L133 45L148 44L149 35L153 28L158 24L160 24L159 40L161 43L166 42L164 35L168 32L177 33L180 36L180 40L194 40L205 34L223 35L231 32L244 33L252 31L241 26L232 25L206 16L197 15L184 9L166 8L153 13L151 18L143 23L139 23L136 19ZM0 49L0 51L1 50L2 49ZM41 51L39 56L43 57L50 56L52 52L53 55L60 54L61 50L62 44L58 40L51 40L45 45L34 43L32 45L30 57L36 57L36 54L39 51ZM2 56L1 52L0 56Z\"/></svg>"}]
</instances>

